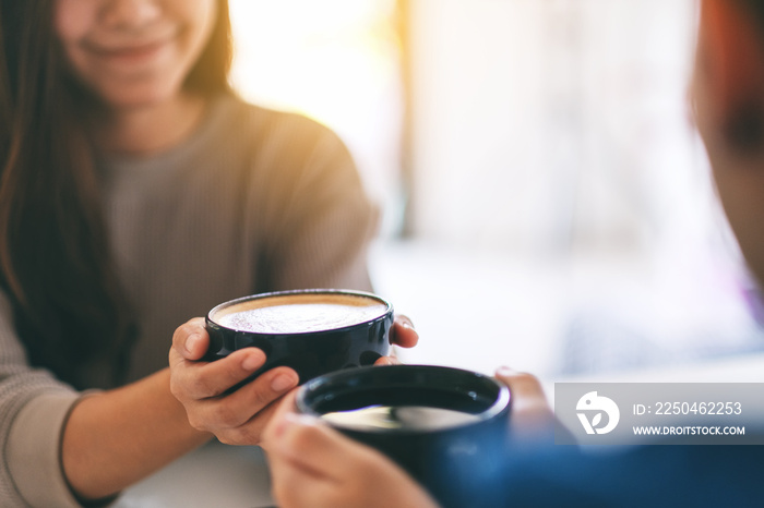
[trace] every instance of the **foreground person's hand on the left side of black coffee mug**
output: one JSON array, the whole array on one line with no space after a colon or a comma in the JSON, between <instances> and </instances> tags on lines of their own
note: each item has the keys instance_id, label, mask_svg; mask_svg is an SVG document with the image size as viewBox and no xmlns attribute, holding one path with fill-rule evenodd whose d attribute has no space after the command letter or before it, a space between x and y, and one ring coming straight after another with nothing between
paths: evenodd
<instances>
[{"instance_id":1,"label":"foreground person's hand on the left side of black coffee mug","mask_svg":"<svg viewBox=\"0 0 764 508\"><path fill-rule=\"evenodd\" d=\"M295 391L265 430L273 496L282 508L435 508L429 494L379 451L293 412Z\"/></svg>"}]
</instances>

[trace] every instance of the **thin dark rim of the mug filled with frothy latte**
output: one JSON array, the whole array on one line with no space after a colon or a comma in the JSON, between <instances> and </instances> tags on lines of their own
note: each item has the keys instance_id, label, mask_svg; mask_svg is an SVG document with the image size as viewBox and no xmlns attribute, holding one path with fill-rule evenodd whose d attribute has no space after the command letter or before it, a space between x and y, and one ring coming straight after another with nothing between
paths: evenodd
<instances>
[{"instance_id":1,"label":"thin dark rim of the mug filled with frothy latte","mask_svg":"<svg viewBox=\"0 0 764 508\"><path fill-rule=\"evenodd\" d=\"M234 305L239 305L241 303L246 302L251 302L255 300L264 300L267 298L278 298L278 297L290 297L294 294L338 294L338 295L347 295L347 297L361 297L361 298L367 298L371 300L375 300L379 303L382 303L385 305L385 311L371 319L366 319L361 320L358 323L354 323L351 325L345 325L345 326L339 326L336 328L325 328L322 330L308 330L308 331L288 331L288 332L271 332L271 331L252 331L252 330L247 330L247 329L241 329L241 328L232 328L230 326L222 325L219 320L215 320L213 317L216 313L219 311L234 306ZM380 297L379 294L374 294L368 291L358 291L358 290L351 290L351 289L327 289L327 288L315 288L315 289L290 289L286 291L270 291L266 293L256 293L256 294L250 294L247 297L241 297L237 298L234 300L228 300L227 302L219 303L212 307L208 312L207 315L205 316L205 320L207 324L212 324L220 329L224 330L230 330L231 332L237 332L237 334L248 334L251 336L267 336L267 337L277 337L277 336L305 336L305 335L312 335L312 334L324 334L324 332L336 332L336 331L342 331L345 329L351 329L357 326L361 325L368 325L371 323L375 323L380 319L384 319L387 315L393 313L393 304L385 298Z\"/></svg>"}]
</instances>

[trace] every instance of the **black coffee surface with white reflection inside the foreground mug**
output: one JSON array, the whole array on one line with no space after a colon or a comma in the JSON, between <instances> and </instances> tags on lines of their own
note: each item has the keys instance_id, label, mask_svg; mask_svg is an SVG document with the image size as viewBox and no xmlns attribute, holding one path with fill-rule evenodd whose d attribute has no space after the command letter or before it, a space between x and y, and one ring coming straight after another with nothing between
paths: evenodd
<instances>
[{"instance_id":1,"label":"black coffee surface with white reflection inside the foreground mug","mask_svg":"<svg viewBox=\"0 0 764 508\"><path fill-rule=\"evenodd\" d=\"M426 406L369 406L351 411L325 413L321 419L356 431L437 431L480 421L480 416L476 414Z\"/></svg>"}]
</instances>

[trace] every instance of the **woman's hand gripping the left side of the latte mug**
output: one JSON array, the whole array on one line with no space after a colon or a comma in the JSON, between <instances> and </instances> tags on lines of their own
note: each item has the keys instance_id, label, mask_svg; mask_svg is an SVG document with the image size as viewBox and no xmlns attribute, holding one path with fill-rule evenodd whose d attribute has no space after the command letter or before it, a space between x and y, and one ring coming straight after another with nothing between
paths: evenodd
<instances>
[{"instance_id":1,"label":"woman's hand gripping the left side of the latte mug","mask_svg":"<svg viewBox=\"0 0 764 508\"><path fill-rule=\"evenodd\" d=\"M265 363L265 353L244 348L215 362L200 362L210 346L201 317L180 326L169 352L170 391L183 404L189 423L229 445L256 445L275 410L272 402L297 386L297 373L275 367L238 388Z\"/></svg>"}]
</instances>

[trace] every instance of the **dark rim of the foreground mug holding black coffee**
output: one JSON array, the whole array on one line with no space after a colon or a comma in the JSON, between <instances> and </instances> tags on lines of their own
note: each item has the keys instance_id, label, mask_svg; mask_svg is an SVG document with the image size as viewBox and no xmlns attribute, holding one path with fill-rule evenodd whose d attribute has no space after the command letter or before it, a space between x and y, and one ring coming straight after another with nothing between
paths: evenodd
<instances>
[{"instance_id":1,"label":"dark rim of the foreground mug holding black coffee","mask_svg":"<svg viewBox=\"0 0 764 508\"><path fill-rule=\"evenodd\" d=\"M411 373L420 372L420 373L451 373L457 376L463 376L466 378L475 378L475 379L480 379L484 382L491 383L498 388L498 392L496 396L496 400L490 403L488 408L485 410L478 412L478 413L470 413L475 416L477 416L477 420L471 421L471 422L464 422L461 424L455 424L455 425L450 425L443 428L434 428L434 430L413 430L413 428L373 428L373 427L368 427L368 428L358 428L354 427L350 425L343 425L338 424L335 422L329 422L327 425L330 425L333 428L341 430L341 431L348 431L353 433L365 433L365 434L398 434L398 435L409 435L409 434L431 434L431 433L442 433L442 432L450 432L453 430L459 430L459 428L465 428L468 426L473 425L480 425L484 424L485 422L491 421L496 418L501 416L504 413L509 413L511 402L512 402L512 395L510 392L509 387L501 383L500 380L496 379L494 377L488 376L486 374L475 372L475 371L468 371L464 368L457 368L457 367L450 367L450 366L444 366L444 365L418 365L418 364L403 364L403 365L380 365L380 366L361 366L361 367L355 367L355 368L346 368L343 371L336 371L333 373L329 374L323 374L319 377L315 377L305 385L302 385L295 397L295 406L297 408L297 411L301 414L306 414L312 418L321 418L321 415L325 414L322 412L317 411L311 407L308 401L306 400L308 395L310 392L314 392L315 390L319 390L323 388L326 384L329 383L342 383L342 382L351 382L354 378L357 379L357 376L373 376L374 374L377 375L387 375L387 376L394 376L396 372L406 372L409 371ZM353 384L355 386L358 386L357 383ZM393 383L392 385L386 385L387 388L393 388L396 387L396 384ZM397 387L406 387L407 389L410 390L411 386L406 385L405 383L398 383ZM350 385L347 385L348 387ZM449 387L440 387L442 391L449 391ZM445 388L445 389L443 389ZM385 385L380 385L379 387L375 387L374 389L382 390L385 389ZM426 387L419 386L418 389L423 390ZM362 390L361 390L362 391ZM372 391L372 389L368 390ZM453 392L456 395L456 392ZM343 394L344 395L344 394ZM341 397L342 395L337 396ZM422 406L427 406L423 403ZM430 406L433 408L437 408L438 406ZM361 408L357 408L361 409ZM442 409L447 409L447 408L442 408Z\"/></svg>"}]
</instances>

